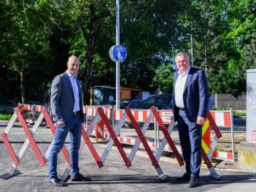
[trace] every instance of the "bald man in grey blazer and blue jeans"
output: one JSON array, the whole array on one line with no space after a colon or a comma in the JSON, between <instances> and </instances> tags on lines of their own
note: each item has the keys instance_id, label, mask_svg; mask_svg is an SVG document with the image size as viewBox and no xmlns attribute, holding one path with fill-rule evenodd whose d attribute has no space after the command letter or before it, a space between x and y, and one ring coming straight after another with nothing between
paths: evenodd
<instances>
[{"instance_id":1,"label":"bald man in grey blazer and blue jeans","mask_svg":"<svg viewBox=\"0 0 256 192\"><path fill-rule=\"evenodd\" d=\"M49 156L49 184L65 186L57 178L57 159L67 135L70 140L71 181L91 181L79 173L78 153L81 143L83 103L81 87L76 73L80 61L71 56L67 62L67 71L53 79L51 87L51 108L53 120L57 121L54 142Z\"/></svg>"}]
</instances>

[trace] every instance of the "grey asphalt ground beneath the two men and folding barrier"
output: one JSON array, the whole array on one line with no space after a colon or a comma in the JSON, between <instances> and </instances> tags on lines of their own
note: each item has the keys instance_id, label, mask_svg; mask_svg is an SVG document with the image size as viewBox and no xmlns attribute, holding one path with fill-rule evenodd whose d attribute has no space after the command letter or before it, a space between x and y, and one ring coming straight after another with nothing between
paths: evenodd
<instances>
[{"instance_id":1,"label":"grey asphalt ground beneath the two men and folding barrier","mask_svg":"<svg viewBox=\"0 0 256 192\"><path fill-rule=\"evenodd\" d=\"M0 121L0 133L4 132L7 123L7 121ZM29 125L29 127L31 126ZM26 134L21 125L15 123L8 134L8 139L15 154L18 154L26 138ZM47 148L51 145L53 134L50 129L39 127L33 138L42 155L44 155ZM70 145L68 138L65 145L69 150ZM101 156L107 147L107 143L96 143L93 140L92 143L99 156ZM0 140L0 149L0 175L2 175L9 172L13 161L2 140ZM131 150L125 149L125 153L129 156ZM164 174L168 177L168 179L163 182L156 176L156 170L154 166L152 166L148 155L139 156L137 153L132 161L132 166L127 168L124 166L124 161L116 146L111 148L106 161L103 163L104 166L100 169L86 145L82 149L79 157L80 172L85 175L85 177L91 177L92 181L72 182L68 180L67 187L53 187L49 186L47 183L48 163L46 162L46 166L41 167L33 148L29 145L17 167L22 174L7 180L0 179L0 191L241 192L253 191L255 189L255 174L239 172L237 170L216 169L217 173L222 175L222 178L215 180L208 175L209 170L206 167L201 168L199 186L197 188L188 188L188 181L175 181L175 177L179 177L185 172L185 166L179 166L178 163L165 162L160 159L159 166L161 166ZM66 166L66 159L62 153L60 153L58 157L59 175L65 170Z\"/></svg>"}]
</instances>

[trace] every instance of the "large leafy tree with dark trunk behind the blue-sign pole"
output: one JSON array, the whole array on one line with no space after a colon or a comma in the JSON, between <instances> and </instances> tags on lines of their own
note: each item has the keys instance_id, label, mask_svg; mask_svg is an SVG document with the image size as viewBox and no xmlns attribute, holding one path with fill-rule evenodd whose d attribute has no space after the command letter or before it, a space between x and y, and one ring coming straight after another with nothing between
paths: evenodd
<instances>
[{"instance_id":1,"label":"large leafy tree with dark trunk behind the blue-sign pole","mask_svg":"<svg viewBox=\"0 0 256 192\"><path fill-rule=\"evenodd\" d=\"M69 41L71 54L77 54L83 64L79 75L84 90L102 82L115 85L115 63L108 50L115 45L115 4L111 1L62 1L59 14L70 12L66 23L76 31ZM121 85L154 91L149 84L162 65L164 54L177 44L176 18L188 1L122 1L120 5L120 42L128 52L121 63ZM182 4L183 3L183 4ZM70 11L71 10L71 11ZM86 93L86 92L85 92ZM89 94L85 94L89 102Z\"/></svg>"}]
</instances>

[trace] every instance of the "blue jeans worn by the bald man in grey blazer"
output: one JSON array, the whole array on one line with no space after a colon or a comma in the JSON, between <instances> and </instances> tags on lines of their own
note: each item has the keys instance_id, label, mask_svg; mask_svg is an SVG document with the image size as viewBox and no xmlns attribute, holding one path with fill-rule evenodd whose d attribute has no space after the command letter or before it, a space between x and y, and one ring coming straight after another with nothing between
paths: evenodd
<instances>
[{"instance_id":1,"label":"blue jeans worn by the bald man in grey blazer","mask_svg":"<svg viewBox=\"0 0 256 192\"><path fill-rule=\"evenodd\" d=\"M49 155L49 177L57 177L57 159L69 132L71 175L79 174L78 153L81 143L82 122L79 115L72 115L66 127L57 125L54 142Z\"/></svg>"}]
</instances>

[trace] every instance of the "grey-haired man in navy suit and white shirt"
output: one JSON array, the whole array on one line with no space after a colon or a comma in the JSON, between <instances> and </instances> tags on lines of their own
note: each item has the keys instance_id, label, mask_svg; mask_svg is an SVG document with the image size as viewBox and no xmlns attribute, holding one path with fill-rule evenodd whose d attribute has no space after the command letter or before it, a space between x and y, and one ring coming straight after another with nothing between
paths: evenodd
<instances>
[{"instance_id":1,"label":"grey-haired man in navy suit and white shirt","mask_svg":"<svg viewBox=\"0 0 256 192\"><path fill-rule=\"evenodd\" d=\"M186 173L176 178L190 180L197 187L201 166L202 124L207 115L209 91L204 70L190 66L189 57L180 52L175 57L178 69L173 75L173 113L186 163Z\"/></svg>"}]
</instances>

